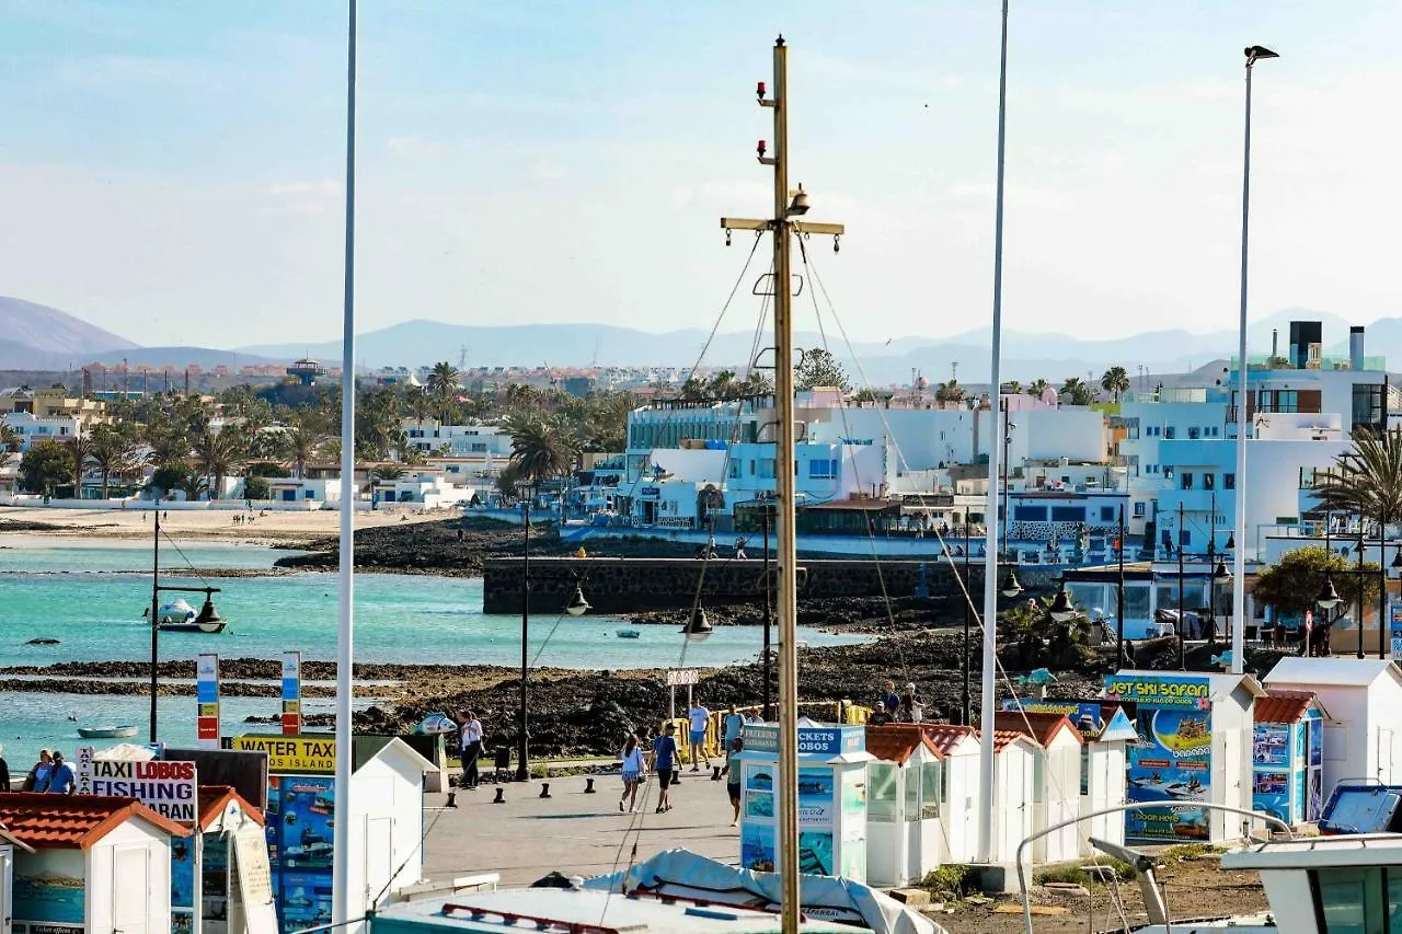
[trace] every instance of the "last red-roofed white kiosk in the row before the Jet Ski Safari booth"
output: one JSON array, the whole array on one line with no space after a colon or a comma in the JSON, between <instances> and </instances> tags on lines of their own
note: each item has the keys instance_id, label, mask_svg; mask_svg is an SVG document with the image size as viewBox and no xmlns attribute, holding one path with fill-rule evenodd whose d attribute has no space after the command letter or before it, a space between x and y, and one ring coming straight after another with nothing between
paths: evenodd
<instances>
[{"instance_id":1,"label":"last red-roofed white kiosk in the row before the Jet Ski Safari booth","mask_svg":"<svg viewBox=\"0 0 1402 934\"><path fill-rule=\"evenodd\" d=\"M1016 732L1032 739L1037 749L1032 774L1032 832L1044 830L1081 813L1081 731L1066 714L1001 711L994 714L997 732ZM1080 854L1078 827L1070 825L1037 837L1032 844L1033 862L1066 862Z\"/></svg>"}]
</instances>

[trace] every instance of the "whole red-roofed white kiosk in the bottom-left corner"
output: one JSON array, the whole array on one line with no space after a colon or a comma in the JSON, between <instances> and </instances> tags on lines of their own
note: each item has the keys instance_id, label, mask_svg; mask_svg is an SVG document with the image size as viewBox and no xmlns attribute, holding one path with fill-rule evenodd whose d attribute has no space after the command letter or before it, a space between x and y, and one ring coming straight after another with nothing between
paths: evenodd
<instances>
[{"instance_id":1,"label":"whole red-roofed white kiosk in the bottom-left corner","mask_svg":"<svg viewBox=\"0 0 1402 934\"><path fill-rule=\"evenodd\" d=\"M128 798L35 792L0 794L0 825L28 847L14 853L13 934L170 934L185 827Z\"/></svg>"}]
</instances>

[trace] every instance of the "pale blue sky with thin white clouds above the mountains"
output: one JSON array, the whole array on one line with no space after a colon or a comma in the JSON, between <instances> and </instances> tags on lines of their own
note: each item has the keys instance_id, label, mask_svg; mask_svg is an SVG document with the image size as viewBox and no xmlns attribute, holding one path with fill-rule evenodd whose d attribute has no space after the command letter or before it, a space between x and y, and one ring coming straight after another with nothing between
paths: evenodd
<instances>
[{"instance_id":1,"label":"pale blue sky with thin white clouds above the mountains","mask_svg":"<svg viewBox=\"0 0 1402 934\"><path fill-rule=\"evenodd\" d=\"M718 217L771 210L778 32L791 182L847 224L812 251L838 318L988 325L995 0L359 10L358 331L709 328L749 254ZM144 345L339 337L345 34L345 0L0 0L0 295ZM1004 325L1235 327L1253 43L1281 57L1255 74L1252 317L1398 313L1398 34L1388 0L1014 0Z\"/></svg>"}]
</instances>

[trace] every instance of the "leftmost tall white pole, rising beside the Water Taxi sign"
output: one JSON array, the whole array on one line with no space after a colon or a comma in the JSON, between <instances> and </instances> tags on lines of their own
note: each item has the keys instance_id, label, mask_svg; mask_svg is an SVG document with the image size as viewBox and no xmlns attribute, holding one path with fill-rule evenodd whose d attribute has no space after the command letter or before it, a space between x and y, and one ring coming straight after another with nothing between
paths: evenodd
<instances>
[{"instance_id":1,"label":"leftmost tall white pole, rising beside the Water Taxi sign","mask_svg":"<svg viewBox=\"0 0 1402 934\"><path fill-rule=\"evenodd\" d=\"M342 815L332 829L331 919L341 928L363 912L350 907L350 715L355 693L355 14L346 29L346 245L345 307L341 325L341 616L336 631L336 784ZM362 906L363 907L363 906Z\"/></svg>"}]
</instances>

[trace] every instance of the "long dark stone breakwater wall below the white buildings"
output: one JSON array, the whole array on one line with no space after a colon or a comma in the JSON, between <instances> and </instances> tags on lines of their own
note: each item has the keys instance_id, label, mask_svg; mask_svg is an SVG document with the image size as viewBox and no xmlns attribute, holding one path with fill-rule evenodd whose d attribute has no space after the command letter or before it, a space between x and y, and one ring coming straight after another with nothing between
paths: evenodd
<instances>
[{"instance_id":1,"label":"long dark stone breakwater wall below the white buildings","mask_svg":"<svg viewBox=\"0 0 1402 934\"><path fill-rule=\"evenodd\" d=\"M955 560L958 562L958 558ZM958 574L946 561L801 560L799 599L924 596L960 600ZM1019 568L1022 586L1050 589L1054 571ZM983 564L969 567L969 589L983 603ZM482 611L520 613L522 560L488 558ZM1046 579L1043 579L1046 578ZM530 611L559 613L582 586L599 613L672 610L691 606L697 588L705 603L756 603L764 595L764 561L695 558L531 558Z\"/></svg>"}]
</instances>

